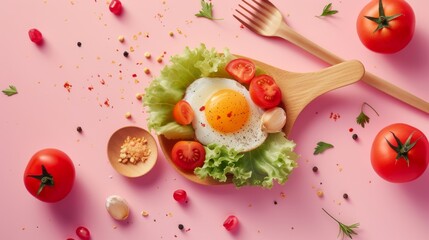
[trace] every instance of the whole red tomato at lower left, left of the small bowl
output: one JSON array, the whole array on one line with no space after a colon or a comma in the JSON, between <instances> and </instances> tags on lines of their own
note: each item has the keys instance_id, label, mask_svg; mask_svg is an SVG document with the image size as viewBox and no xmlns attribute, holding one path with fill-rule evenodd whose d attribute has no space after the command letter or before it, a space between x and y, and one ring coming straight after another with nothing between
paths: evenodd
<instances>
[{"instance_id":1,"label":"whole red tomato at lower left, left of the small bowl","mask_svg":"<svg viewBox=\"0 0 429 240\"><path fill-rule=\"evenodd\" d=\"M44 202L58 202L71 191L75 168L62 151L48 148L36 152L24 171L28 192Z\"/></svg>"}]
</instances>

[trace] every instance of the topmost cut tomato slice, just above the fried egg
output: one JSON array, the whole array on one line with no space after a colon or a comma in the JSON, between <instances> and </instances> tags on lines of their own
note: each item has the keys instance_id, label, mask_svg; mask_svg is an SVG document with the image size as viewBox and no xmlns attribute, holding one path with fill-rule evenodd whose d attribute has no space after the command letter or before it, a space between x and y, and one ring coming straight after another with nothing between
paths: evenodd
<instances>
[{"instance_id":1,"label":"topmost cut tomato slice, just above the fried egg","mask_svg":"<svg viewBox=\"0 0 429 240\"><path fill-rule=\"evenodd\" d=\"M247 59L237 58L226 65L226 71L240 83L250 83L255 76L256 67Z\"/></svg>"}]
</instances>

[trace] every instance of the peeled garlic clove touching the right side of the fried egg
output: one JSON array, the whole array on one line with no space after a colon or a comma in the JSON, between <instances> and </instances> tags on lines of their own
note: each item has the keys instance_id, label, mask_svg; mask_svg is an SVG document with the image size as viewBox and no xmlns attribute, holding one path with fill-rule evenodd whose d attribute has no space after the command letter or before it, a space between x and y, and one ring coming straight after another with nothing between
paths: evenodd
<instances>
[{"instance_id":1,"label":"peeled garlic clove touching the right side of the fried egg","mask_svg":"<svg viewBox=\"0 0 429 240\"><path fill-rule=\"evenodd\" d=\"M286 112L283 108L275 107L262 114L261 129L267 133L282 131L286 124Z\"/></svg>"}]
</instances>

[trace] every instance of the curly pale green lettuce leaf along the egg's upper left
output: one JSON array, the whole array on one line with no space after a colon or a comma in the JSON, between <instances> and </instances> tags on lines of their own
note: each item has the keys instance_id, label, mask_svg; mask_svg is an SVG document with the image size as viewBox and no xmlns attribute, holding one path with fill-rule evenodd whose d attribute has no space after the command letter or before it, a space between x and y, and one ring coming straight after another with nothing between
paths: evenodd
<instances>
[{"instance_id":1,"label":"curly pale green lettuce leaf along the egg's upper left","mask_svg":"<svg viewBox=\"0 0 429 240\"><path fill-rule=\"evenodd\" d=\"M204 44L195 49L187 47L182 54L172 56L171 64L145 90L143 106L148 108L148 128L169 139L192 138L191 126L174 121L173 107L193 81L201 77L227 77L225 66L232 58L227 49L219 53Z\"/></svg>"}]
</instances>

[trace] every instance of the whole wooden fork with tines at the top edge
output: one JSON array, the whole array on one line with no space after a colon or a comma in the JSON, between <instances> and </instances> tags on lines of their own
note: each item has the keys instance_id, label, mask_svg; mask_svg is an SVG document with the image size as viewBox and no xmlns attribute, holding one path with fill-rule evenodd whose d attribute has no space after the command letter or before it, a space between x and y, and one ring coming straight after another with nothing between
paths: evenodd
<instances>
[{"instance_id":1,"label":"whole wooden fork with tines at the top edge","mask_svg":"<svg viewBox=\"0 0 429 240\"><path fill-rule=\"evenodd\" d=\"M266 37L283 38L332 65L344 62L344 59L320 47L289 27L284 21L280 11L270 1L242 1L243 5L238 5L239 9L236 9L237 14L233 14L233 16L253 32ZM250 3L250 1L252 3ZM377 77L372 73L366 72L362 78L362 81L386 94L389 94L392 97L395 97L398 100L409 104L410 106L429 113L428 102L381 79L380 77Z\"/></svg>"}]
</instances>

